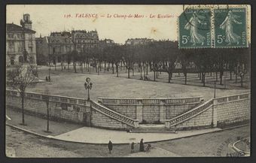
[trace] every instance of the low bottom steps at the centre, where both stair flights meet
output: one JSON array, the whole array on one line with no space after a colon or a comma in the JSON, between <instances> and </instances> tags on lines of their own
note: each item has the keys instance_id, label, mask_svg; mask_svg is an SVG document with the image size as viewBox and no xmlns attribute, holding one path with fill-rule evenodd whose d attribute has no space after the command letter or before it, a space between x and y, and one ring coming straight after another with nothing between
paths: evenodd
<instances>
[{"instance_id":1,"label":"low bottom steps at the centre, where both stair flights meet","mask_svg":"<svg viewBox=\"0 0 256 163\"><path fill-rule=\"evenodd\" d=\"M165 125L139 125L139 128L133 128L130 130L131 133L176 133L169 128L166 128Z\"/></svg>"}]
</instances>

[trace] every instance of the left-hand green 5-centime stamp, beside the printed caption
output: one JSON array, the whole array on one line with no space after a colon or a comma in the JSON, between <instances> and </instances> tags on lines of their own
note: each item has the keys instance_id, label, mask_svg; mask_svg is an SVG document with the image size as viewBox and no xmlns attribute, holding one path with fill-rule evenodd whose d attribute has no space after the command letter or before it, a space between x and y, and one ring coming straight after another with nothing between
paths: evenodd
<instances>
[{"instance_id":1,"label":"left-hand green 5-centime stamp, beside the printed caption","mask_svg":"<svg viewBox=\"0 0 256 163\"><path fill-rule=\"evenodd\" d=\"M212 47L210 8L186 8L178 17L180 48Z\"/></svg>"}]
</instances>

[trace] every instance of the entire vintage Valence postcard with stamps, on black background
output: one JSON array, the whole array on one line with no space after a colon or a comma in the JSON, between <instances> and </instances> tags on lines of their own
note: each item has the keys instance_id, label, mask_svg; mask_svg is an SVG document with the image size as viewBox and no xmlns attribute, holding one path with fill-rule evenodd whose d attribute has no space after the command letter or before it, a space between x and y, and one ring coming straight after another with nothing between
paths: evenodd
<instances>
[{"instance_id":1,"label":"entire vintage Valence postcard with stamps, on black background","mask_svg":"<svg viewBox=\"0 0 256 163\"><path fill-rule=\"evenodd\" d=\"M10 158L248 157L250 5L7 5Z\"/></svg>"}]
</instances>

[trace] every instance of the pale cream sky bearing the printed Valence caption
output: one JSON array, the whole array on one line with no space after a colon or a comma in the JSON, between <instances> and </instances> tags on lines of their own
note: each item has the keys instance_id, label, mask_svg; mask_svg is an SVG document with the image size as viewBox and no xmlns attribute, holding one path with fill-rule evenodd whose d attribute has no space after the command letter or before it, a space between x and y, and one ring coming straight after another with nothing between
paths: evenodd
<instances>
[{"instance_id":1,"label":"pale cream sky bearing the printed Valence caption","mask_svg":"<svg viewBox=\"0 0 256 163\"><path fill-rule=\"evenodd\" d=\"M20 26L23 14L30 14L36 37L63 30L96 29L99 39L124 44L128 38L177 40L177 18L183 11L183 5L7 5L6 20ZM80 14L98 17L78 17ZM143 17L134 18L135 14ZM158 18L159 14L168 17Z\"/></svg>"}]
</instances>

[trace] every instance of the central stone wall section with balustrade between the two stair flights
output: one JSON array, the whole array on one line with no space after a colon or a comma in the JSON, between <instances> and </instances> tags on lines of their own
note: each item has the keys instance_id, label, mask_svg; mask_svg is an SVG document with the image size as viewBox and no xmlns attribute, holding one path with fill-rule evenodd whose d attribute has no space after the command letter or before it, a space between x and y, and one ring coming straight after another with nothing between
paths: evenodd
<instances>
[{"instance_id":1,"label":"central stone wall section with balustrade between the two stair flights","mask_svg":"<svg viewBox=\"0 0 256 163\"><path fill-rule=\"evenodd\" d=\"M203 97L191 98L99 98L99 102L111 110L117 111L142 123L165 122L192 109L203 101Z\"/></svg>"}]
</instances>

